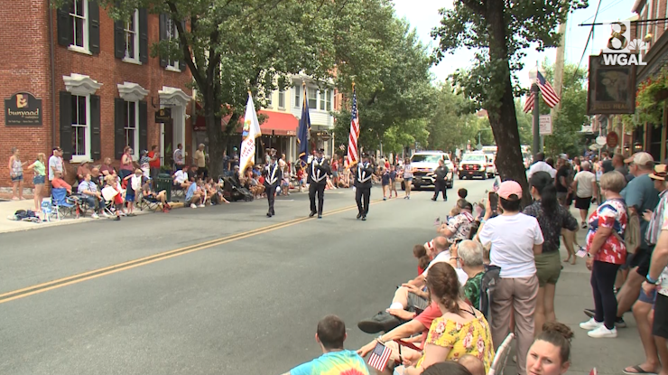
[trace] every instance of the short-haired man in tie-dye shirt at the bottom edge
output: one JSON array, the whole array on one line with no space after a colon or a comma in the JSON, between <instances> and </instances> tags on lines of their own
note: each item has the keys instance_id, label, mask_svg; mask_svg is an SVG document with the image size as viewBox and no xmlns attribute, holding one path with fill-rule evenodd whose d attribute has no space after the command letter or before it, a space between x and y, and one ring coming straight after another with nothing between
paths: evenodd
<instances>
[{"instance_id":1,"label":"short-haired man in tie-dye shirt at the bottom edge","mask_svg":"<svg viewBox=\"0 0 668 375\"><path fill-rule=\"evenodd\" d=\"M284 375L355 374L368 375L364 360L356 352L343 349L346 340L346 324L336 315L328 315L318 323L315 341L320 344L322 355L303 363Z\"/></svg>"}]
</instances>

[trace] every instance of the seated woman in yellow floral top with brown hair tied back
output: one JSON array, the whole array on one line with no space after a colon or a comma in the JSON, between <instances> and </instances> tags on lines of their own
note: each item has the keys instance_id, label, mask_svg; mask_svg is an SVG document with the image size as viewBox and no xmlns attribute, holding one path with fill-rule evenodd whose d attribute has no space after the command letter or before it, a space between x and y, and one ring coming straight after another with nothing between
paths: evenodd
<instances>
[{"instance_id":1,"label":"seated woman in yellow floral top with brown hair tied back","mask_svg":"<svg viewBox=\"0 0 668 375\"><path fill-rule=\"evenodd\" d=\"M434 363L457 361L466 354L483 361L487 372L494 359L492 333L483 314L459 296L455 268L443 262L431 267L427 287L431 301L439 305L443 315L431 323L422 358L406 368L404 374L420 374Z\"/></svg>"}]
</instances>

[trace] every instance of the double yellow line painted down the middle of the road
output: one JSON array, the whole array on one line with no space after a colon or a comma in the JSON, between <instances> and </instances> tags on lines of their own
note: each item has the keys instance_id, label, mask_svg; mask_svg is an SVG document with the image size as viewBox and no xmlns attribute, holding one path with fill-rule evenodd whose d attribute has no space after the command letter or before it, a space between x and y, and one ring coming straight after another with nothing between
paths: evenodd
<instances>
[{"instance_id":1,"label":"double yellow line painted down the middle of the road","mask_svg":"<svg viewBox=\"0 0 668 375\"><path fill-rule=\"evenodd\" d=\"M375 204L377 202L383 202L382 200L376 200L372 201L371 204ZM357 205L354 206L347 206L343 207L334 211L329 211L327 213L324 213L322 216L329 216L329 215L334 215L340 212L345 212L345 211L351 211L353 209L357 209ZM237 241L239 239L247 239L249 237L254 237L263 233L271 232L274 230L280 230L286 227L291 227L292 225L296 225L299 223L302 223L304 221L312 220L313 218L299 218L299 219L294 219L294 220L288 220L288 221L283 221L279 222L273 225L270 225L268 227L264 228L258 228L256 230L249 230L246 232L242 233L237 233L233 234L227 237L223 237L220 239L211 239L206 242L201 242L195 245L190 245L186 246L184 248L176 248L170 251L164 251L159 254L155 254L149 257L144 257L144 258L138 258L135 260L130 260L124 263L119 263L114 266L109 266L109 267L103 267L103 268L97 268L92 271L84 272L81 274L73 275L70 277L63 277L59 278L53 281L49 281L46 283L42 284L37 284L34 286L28 286L24 287L22 289L16 289L11 292L7 292L4 294L0 295L0 304L5 304L6 302L14 301L15 299L20 299L24 298L30 295L38 295L44 292L48 292L53 289L58 289L63 286L70 286L72 284L78 284L83 281L91 280L97 277L103 277L111 274L116 274L117 272L125 271L127 269L132 269L135 267L141 267L145 266L151 263L155 263L164 259L169 259L169 258L174 258L174 257L179 257L181 255L185 254L190 254L195 251L203 250L205 248L212 248L214 246L218 245L223 245L228 242L233 242Z\"/></svg>"}]
</instances>

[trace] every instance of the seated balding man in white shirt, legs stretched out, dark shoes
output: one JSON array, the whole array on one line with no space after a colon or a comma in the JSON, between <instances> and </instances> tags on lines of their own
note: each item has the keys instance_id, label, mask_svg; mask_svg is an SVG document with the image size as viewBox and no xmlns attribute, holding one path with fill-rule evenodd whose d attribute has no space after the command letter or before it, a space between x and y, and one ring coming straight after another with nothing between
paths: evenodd
<instances>
[{"instance_id":1,"label":"seated balding man in white shirt, legs stretched out, dark shoes","mask_svg":"<svg viewBox=\"0 0 668 375\"><path fill-rule=\"evenodd\" d=\"M449 242L444 237L437 237L434 239L434 251L436 256L431 260L427 269L422 272L422 275L415 277L408 283L403 284L394 292L392 304L385 311L381 311L371 319L362 320L357 323L357 327L366 333L379 333L381 331L388 332L397 325L412 319L414 312L417 310L424 310L429 306L429 297L426 291L423 290L425 286L425 278L431 267L438 263L450 261ZM459 277L459 284L464 284L468 278L467 274L457 268L455 270Z\"/></svg>"}]
</instances>

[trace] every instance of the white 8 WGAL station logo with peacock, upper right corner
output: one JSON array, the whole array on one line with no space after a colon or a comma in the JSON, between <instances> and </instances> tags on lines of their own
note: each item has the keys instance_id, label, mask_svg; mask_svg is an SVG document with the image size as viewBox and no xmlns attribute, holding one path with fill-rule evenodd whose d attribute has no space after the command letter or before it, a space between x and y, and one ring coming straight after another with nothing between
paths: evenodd
<instances>
[{"instance_id":1,"label":"white 8 WGAL station logo with peacock, upper right corner","mask_svg":"<svg viewBox=\"0 0 668 375\"><path fill-rule=\"evenodd\" d=\"M647 65L639 54L649 50L649 45L642 39L630 39L631 23L617 21L608 23L612 36L608 40L608 48L603 49L603 65Z\"/></svg>"}]
</instances>

